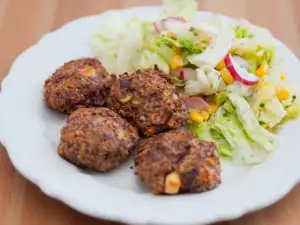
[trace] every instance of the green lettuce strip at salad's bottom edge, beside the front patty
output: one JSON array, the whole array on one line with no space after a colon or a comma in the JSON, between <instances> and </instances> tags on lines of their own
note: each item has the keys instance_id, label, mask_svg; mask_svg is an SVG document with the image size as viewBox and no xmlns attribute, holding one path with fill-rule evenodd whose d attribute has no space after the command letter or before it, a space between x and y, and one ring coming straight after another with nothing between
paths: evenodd
<instances>
[{"instance_id":1,"label":"green lettuce strip at salad's bottom edge, beside the front patty","mask_svg":"<svg viewBox=\"0 0 300 225\"><path fill-rule=\"evenodd\" d=\"M237 117L236 108L228 97L222 101L223 105L210 120L200 125L193 124L189 127L190 130L199 140L215 142L222 158L238 164L262 163L269 153L258 149L257 143L246 133Z\"/></svg>"}]
</instances>

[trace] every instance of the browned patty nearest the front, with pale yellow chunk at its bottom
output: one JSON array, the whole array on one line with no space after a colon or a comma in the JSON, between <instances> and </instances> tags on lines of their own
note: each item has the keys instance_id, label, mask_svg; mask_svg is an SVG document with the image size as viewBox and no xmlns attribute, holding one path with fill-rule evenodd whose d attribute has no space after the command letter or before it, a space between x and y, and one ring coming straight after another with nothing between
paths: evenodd
<instances>
[{"instance_id":1,"label":"browned patty nearest the front, with pale yellow chunk at its bottom","mask_svg":"<svg viewBox=\"0 0 300 225\"><path fill-rule=\"evenodd\" d=\"M136 173L153 194L203 192L221 183L220 162L212 142L173 130L140 141Z\"/></svg>"}]
</instances>

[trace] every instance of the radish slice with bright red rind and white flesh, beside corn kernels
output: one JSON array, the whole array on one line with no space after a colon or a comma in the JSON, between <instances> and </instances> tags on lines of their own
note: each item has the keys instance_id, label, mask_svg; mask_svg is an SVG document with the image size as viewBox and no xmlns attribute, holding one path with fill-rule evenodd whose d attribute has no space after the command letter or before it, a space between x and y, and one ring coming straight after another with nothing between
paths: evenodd
<instances>
[{"instance_id":1,"label":"radish slice with bright red rind and white flesh, beside corn kernels","mask_svg":"<svg viewBox=\"0 0 300 225\"><path fill-rule=\"evenodd\" d=\"M244 85L253 85L258 82L258 77L253 73L248 73L245 68L241 67L241 65L233 59L231 54L226 55L224 62L228 71L236 81Z\"/></svg>"}]
</instances>

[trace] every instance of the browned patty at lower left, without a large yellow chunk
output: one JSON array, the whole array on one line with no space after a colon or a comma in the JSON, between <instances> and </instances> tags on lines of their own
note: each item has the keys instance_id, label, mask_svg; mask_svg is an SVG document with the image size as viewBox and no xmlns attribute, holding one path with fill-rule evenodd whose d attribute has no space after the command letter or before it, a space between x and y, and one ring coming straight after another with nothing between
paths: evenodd
<instances>
[{"instance_id":1,"label":"browned patty at lower left, without a large yellow chunk","mask_svg":"<svg viewBox=\"0 0 300 225\"><path fill-rule=\"evenodd\" d=\"M80 108L61 130L58 153L96 171L116 168L133 151L138 130L108 108Z\"/></svg>"}]
</instances>

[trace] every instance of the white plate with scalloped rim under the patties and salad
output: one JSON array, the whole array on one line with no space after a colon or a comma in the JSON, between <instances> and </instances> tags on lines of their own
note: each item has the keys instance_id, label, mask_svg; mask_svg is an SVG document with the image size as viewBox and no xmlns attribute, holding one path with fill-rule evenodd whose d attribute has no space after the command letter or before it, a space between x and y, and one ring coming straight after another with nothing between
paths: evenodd
<instances>
[{"instance_id":1,"label":"white plate with scalloped rim under the patties and salad","mask_svg":"<svg viewBox=\"0 0 300 225\"><path fill-rule=\"evenodd\" d=\"M154 19L156 10L132 8L76 20L45 35L18 57L0 94L0 137L12 163L47 195L91 216L133 224L206 224L279 200L299 181L299 120L282 129L284 142L267 162L252 168L223 163L223 183L202 194L153 196L129 168L131 160L111 173L88 174L57 155L65 117L45 107L45 79L68 60L92 56L89 35L104 17L136 14ZM288 59L288 79L300 83L298 60L282 43L278 48Z\"/></svg>"}]
</instances>

